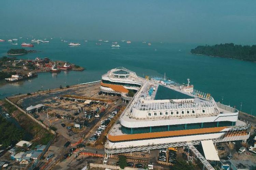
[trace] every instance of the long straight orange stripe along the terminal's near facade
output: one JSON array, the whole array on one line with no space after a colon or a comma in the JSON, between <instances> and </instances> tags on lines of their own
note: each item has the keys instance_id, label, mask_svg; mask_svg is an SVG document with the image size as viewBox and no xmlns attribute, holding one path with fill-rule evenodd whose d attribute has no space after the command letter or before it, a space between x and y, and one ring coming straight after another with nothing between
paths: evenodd
<instances>
[{"instance_id":1,"label":"long straight orange stripe along the terminal's near facade","mask_svg":"<svg viewBox=\"0 0 256 170\"><path fill-rule=\"evenodd\" d=\"M110 141L150 139L150 138L169 137L169 136L213 133L213 132L222 131L225 128L227 128L227 127L224 126L224 127L217 127L217 128L202 128L202 129L190 129L190 130L180 130L180 131L126 134L126 135L117 135L117 136L112 136L112 135L108 134L108 138Z\"/></svg>"}]
</instances>

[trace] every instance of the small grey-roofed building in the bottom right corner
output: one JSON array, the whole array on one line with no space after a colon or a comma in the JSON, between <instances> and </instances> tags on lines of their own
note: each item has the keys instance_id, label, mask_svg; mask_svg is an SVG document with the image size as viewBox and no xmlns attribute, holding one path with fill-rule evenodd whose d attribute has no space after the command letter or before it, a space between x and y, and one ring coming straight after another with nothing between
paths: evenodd
<instances>
[{"instance_id":1,"label":"small grey-roofed building in the bottom right corner","mask_svg":"<svg viewBox=\"0 0 256 170\"><path fill-rule=\"evenodd\" d=\"M229 160L231 170L255 170L256 165L251 160Z\"/></svg>"}]
</instances>

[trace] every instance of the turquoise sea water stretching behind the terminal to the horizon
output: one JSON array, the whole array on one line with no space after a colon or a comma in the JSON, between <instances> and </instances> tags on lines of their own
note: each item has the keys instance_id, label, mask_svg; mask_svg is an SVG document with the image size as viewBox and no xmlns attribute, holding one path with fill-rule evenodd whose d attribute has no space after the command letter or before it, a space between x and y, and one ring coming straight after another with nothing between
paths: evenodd
<instances>
[{"instance_id":1,"label":"turquoise sea water stretching behind the terminal to the horizon","mask_svg":"<svg viewBox=\"0 0 256 170\"><path fill-rule=\"evenodd\" d=\"M26 41L19 40L20 44ZM29 42L27 40L27 42ZM40 50L17 58L34 59L37 56L49 57L51 60L62 60L85 67L86 70L61 72L58 74L39 73L37 78L13 84L0 82L0 98L18 93L27 93L73 85L101 79L108 70L124 66L140 76L166 73L167 78L186 83L190 78L195 89L210 93L215 101L222 102L256 115L256 63L233 60L229 58L193 55L189 51L199 44L152 43L152 46L141 42L126 44L119 42L121 48L112 49L111 42L72 40L80 47L69 47L59 38L50 40L49 44L34 45L29 48ZM8 42L0 43L0 56L10 48L17 46Z\"/></svg>"}]
</instances>

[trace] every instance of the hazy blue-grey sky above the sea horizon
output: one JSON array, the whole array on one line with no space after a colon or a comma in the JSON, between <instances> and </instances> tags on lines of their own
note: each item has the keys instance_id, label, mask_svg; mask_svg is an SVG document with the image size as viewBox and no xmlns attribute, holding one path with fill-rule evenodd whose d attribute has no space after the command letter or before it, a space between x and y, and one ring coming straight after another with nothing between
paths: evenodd
<instances>
[{"instance_id":1,"label":"hazy blue-grey sky above the sea horizon","mask_svg":"<svg viewBox=\"0 0 256 170\"><path fill-rule=\"evenodd\" d=\"M0 38L256 44L256 0L0 0Z\"/></svg>"}]
</instances>

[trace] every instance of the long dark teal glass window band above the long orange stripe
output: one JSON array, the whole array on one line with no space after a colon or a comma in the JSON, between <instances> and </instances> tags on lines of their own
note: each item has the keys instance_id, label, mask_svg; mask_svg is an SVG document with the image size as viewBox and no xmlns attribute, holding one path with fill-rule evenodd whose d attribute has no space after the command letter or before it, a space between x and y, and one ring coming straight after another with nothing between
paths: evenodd
<instances>
[{"instance_id":1,"label":"long dark teal glass window band above the long orange stripe","mask_svg":"<svg viewBox=\"0 0 256 170\"><path fill-rule=\"evenodd\" d=\"M121 127L121 130L125 134L138 134L138 133L151 133L151 132L165 132L165 131L179 131L189 129L201 129L201 128L215 128L223 126L234 126L236 122L221 121L221 122L204 122L204 123L189 123L189 124L176 124L165 126L148 126L142 128L126 128Z\"/></svg>"}]
</instances>

